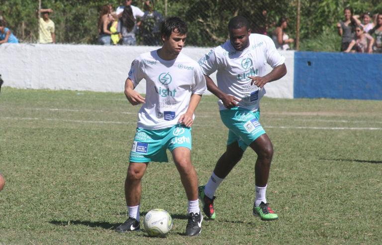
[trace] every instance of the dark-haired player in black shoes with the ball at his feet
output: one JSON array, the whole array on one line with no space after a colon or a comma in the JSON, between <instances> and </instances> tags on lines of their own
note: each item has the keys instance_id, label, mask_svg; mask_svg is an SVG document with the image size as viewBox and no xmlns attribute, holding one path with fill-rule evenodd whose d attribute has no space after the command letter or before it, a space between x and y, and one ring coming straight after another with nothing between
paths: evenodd
<instances>
[{"instance_id":1,"label":"dark-haired player in black shoes with the ball at his feet","mask_svg":"<svg viewBox=\"0 0 382 245\"><path fill-rule=\"evenodd\" d=\"M131 64L125 95L132 105L143 104L130 153L125 180L129 213L117 232L139 230L141 179L151 161L167 162L166 149L173 155L189 200L187 236L201 231L197 175L191 164L191 125L194 111L207 90L197 62L181 53L187 37L187 24L179 17L163 21L162 48L141 54ZM146 80L146 97L134 88Z\"/></svg>"}]
</instances>

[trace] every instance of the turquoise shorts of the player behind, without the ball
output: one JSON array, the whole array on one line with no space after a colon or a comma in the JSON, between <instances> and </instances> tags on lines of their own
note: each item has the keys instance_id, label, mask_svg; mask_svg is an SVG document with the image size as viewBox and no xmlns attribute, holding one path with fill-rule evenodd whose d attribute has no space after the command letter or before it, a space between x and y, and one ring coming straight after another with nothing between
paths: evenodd
<instances>
[{"instance_id":1,"label":"turquoise shorts of the player behind, without the ball","mask_svg":"<svg viewBox=\"0 0 382 245\"><path fill-rule=\"evenodd\" d=\"M229 129L227 145L237 141L243 151L265 133L263 126L259 123L260 111L251 112L235 107L220 111L220 118Z\"/></svg>"}]
</instances>

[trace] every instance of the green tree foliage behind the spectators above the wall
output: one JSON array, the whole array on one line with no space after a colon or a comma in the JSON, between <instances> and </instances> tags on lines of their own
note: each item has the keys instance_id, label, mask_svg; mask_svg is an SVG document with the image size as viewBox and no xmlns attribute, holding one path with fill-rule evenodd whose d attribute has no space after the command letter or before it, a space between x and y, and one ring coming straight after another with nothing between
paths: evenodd
<instances>
[{"instance_id":1,"label":"green tree foliage behind the spectators above the wall","mask_svg":"<svg viewBox=\"0 0 382 245\"><path fill-rule=\"evenodd\" d=\"M153 0L157 11L166 14L165 0ZM52 8L51 19L56 24L56 39L60 43L95 44L97 20L103 4L116 9L123 0L42 0L42 6ZM304 50L338 50L336 23L343 18L343 8L351 6L355 14L382 12L381 0L300 0L300 43ZM133 1L142 8L142 0ZM8 27L23 42L36 42L38 0L0 0L0 11ZM271 33L280 17L289 19L289 36L295 37L297 0L168 0L167 15L178 15L189 25L188 45L215 46L228 38L227 23L232 16L243 15L251 28L269 26ZM267 10L267 18L263 15ZM139 39L138 39L139 40ZM331 42L336 42L331 43ZM339 45L339 44L338 44ZM335 48L334 48L335 47ZM334 48L334 49L333 49Z\"/></svg>"}]
</instances>

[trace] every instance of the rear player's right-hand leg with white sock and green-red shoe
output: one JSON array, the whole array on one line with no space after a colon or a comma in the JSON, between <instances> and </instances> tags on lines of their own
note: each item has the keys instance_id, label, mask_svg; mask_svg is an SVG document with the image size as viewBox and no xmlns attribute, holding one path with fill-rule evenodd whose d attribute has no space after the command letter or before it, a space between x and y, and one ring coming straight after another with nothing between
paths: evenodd
<instances>
[{"instance_id":1,"label":"rear player's right-hand leg with white sock and green-red shoe","mask_svg":"<svg viewBox=\"0 0 382 245\"><path fill-rule=\"evenodd\" d=\"M253 214L262 220L276 220L278 215L269 207L266 199L267 183L273 157L273 145L266 133L254 140L250 147L256 152L255 189L256 199Z\"/></svg>"}]
</instances>

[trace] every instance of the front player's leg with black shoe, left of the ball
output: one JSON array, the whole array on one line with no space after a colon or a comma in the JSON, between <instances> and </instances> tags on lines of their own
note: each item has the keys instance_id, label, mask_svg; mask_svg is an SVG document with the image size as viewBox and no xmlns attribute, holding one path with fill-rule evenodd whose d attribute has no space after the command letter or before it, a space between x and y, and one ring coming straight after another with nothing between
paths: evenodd
<instances>
[{"instance_id":1,"label":"front player's leg with black shoe, left of the ball","mask_svg":"<svg viewBox=\"0 0 382 245\"><path fill-rule=\"evenodd\" d=\"M124 233L140 229L139 204L141 201L141 180L147 169L147 162L130 162L125 179L125 198L129 218L115 231Z\"/></svg>"}]
</instances>

